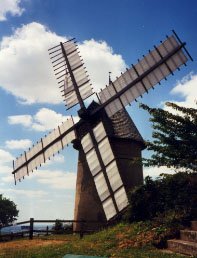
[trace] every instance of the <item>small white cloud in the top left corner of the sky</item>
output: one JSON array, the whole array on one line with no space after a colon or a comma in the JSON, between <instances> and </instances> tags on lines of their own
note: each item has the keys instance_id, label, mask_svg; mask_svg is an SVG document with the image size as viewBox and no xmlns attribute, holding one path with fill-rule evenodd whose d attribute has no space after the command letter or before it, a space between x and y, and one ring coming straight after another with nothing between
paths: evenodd
<instances>
[{"instance_id":1,"label":"small white cloud in the top left corner of the sky","mask_svg":"<svg viewBox=\"0 0 197 258\"><path fill-rule=\"evenodd\" d=\"M7 20L6 15L10 13L12 16L21 16L24 8L19 6L21 0L1 0L0 1L0 21Z\"/></svg>"}]
</instances>

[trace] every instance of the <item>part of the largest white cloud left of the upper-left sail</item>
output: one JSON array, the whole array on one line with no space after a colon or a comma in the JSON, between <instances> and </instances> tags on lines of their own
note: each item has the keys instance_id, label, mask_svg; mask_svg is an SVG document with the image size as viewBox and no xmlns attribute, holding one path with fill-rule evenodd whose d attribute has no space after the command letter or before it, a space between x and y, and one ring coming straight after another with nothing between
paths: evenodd
<instances>
[{"instance_id":1,"label":"part of the largest white cloud left of the upper-left sail","mask_svg":"<svg viewBox=\"0 0 197 258\"><path fill-rule=\"evenodd\" d=\"M16 29L10 37L3 37L0 85L23 103L60 103L61 94L47 51L60 41L65 38L36 22Z\"/></svg>"}]
</instances>

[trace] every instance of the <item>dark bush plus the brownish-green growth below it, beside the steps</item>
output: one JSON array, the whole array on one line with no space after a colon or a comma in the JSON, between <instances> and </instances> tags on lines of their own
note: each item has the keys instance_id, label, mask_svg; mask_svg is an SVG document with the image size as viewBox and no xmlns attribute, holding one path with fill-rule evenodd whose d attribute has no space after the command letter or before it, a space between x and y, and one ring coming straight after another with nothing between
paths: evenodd
<instances>
[{"instance_id":1,"label":"dark bush plus the brownish-green growth below it, beside the steps","mask_svg":"<svg viewBox=\"0 0 197 258\"><path fill-rule=\"evenodd\" d=\"M166 247L167 239L179 237L180 229L197 218L197 173L146 177L144 185L130 192L129 203L124 218L137 222L138 234Z\"/></svg>"}]
</instances>

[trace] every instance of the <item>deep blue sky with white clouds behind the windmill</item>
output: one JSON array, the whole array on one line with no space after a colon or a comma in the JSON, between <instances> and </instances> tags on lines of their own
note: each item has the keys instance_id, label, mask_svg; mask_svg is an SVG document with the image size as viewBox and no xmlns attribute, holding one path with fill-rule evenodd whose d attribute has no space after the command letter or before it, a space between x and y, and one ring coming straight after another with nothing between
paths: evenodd
<instances>
[{"instance_id":1,"label":"deep blue sky with white clouds behind the windmill","mask_svg":"<svg viewBox=\"0 0 197 258\"><path fill-rule=\"evenodd\" d=\"M72 146L14 185L12 162L67 117L48 55L60 41L76 38L98 92L174 29L194 62L175 71L140 102L166 108L166 101L196 107L196 0L0 0L0 193L14 201L18 221L73 219L77 151ZM86 105L90 100L86 102ZM146 111L127 111L145 140L152 128ZM144 157L150 153L143 151ZM172 169L145 168L144 176Z\"/></svg>"}]
</instances>

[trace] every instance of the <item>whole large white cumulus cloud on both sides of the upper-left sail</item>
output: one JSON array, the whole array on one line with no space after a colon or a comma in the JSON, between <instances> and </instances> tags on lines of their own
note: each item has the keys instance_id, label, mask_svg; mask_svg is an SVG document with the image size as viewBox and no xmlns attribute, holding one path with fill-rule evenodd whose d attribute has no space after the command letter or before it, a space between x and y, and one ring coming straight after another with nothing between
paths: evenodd
<instances>
[{"instance_id":1,"label":"whole large white cumulus cloud on both sides of the upper-left sail","mask_svg":"<svg viewBox=\"0 0 197 258\"><path fill-rule=\"evenodd\" d=\"M25 104L61 103L47 49L66 41L44 25L32 22L17 28L0 42L0 85ZM108 82L108 72L118 76L126 67L106 42L79 43L90 79L96 90ZM12 76L10 76L12 75Z\"/></svg>"}]
</instances>

